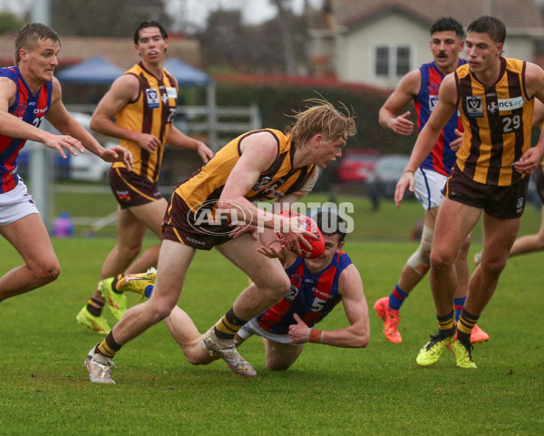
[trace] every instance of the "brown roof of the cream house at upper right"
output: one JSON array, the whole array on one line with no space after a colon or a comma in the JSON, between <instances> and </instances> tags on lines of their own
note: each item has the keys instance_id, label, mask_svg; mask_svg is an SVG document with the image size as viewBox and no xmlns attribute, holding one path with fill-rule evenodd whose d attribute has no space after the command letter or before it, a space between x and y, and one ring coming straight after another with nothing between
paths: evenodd
<instances>
[{"instance_id":1,"label":"brown roof of the cream house at upper right","mask_svg":"<svg viewBox=\"0 0 544 436\"><path fill-rule=\"evenodd\" d=\"M544 20L534 0L329 0L327 7L335 24L347 31L393 11L428 26L441 16L452 16L465 28L478 16L494 15L506 25L507 37L544 35Z\"/></svg>"}]
</instances>

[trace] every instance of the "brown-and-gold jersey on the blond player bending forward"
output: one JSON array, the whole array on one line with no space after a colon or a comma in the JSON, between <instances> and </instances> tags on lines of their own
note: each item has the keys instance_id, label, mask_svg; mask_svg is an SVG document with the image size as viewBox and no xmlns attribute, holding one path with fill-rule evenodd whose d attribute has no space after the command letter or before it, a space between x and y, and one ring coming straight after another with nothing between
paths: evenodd
<instances>
[{"instance_id":1,"label":"brown-and-gold jersey on the blond player bending forward","mask_svg":"<svg viewBox=\"0 0 544 436\"><path fill-rule=\"evenodd\" d=\"M296 149L290 137L273 129L260 131L268 131L274 136L277 141L277 158L267 170L260 174L255 185L246 193L246 199L251 202L276 199L302 189L306 181L314 176L316 166L294 169L293 156ZM210 209L210 217L215 218L217 200L227 183L230 172L242 154L240 142L260 131L249 131L228 142L206 165L182 182L174 190L173 195L180 196L193 211L197 211L201 205L206 204ZM171 203L170 201L170 205Z\"/></svg>"}]
</instances>

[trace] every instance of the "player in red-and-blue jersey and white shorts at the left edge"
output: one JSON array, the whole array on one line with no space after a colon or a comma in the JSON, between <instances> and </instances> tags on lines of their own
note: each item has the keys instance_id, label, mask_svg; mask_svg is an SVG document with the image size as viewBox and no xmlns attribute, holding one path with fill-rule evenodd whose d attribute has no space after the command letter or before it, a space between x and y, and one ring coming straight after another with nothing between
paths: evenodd
<instances>
[{"instance_id":1,"label":"player in red-and-blue jersey and white shorts at the left edge","mask_svg":"<svg viewBox=\"0 0 544 436\"><path fill-rule=\"evenodd\" d=\"M24 260L0 278L0 301L47 285L60 273L44 221L17 174L26 140L42 142L63 158L65 150L77 156L87 149L128 171L132 167L130 151L104 149L64 108L61 85L53 77L60 47L52 28L26 24L15 37L15 66L0 69L0 235ZM40 130L44 119L63 135Z\"/></svg>"}]
</instances>

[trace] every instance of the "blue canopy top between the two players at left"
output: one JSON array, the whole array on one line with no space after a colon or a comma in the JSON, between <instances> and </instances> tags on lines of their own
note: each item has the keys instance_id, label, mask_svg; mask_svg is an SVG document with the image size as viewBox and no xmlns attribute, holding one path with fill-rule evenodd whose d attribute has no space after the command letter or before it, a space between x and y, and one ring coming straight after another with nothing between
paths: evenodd
<instances>
[{"instance_id":1,"label":"blue canopy top between the two players at left","mask_svg":"<svg viewBox=\"0 0 544 436\"><path fill-rule=\"evenodd\" d=\"M102 56L91 58L55 74L61 82L108 84L124 73Z\"/></svg>"}]
</instances>

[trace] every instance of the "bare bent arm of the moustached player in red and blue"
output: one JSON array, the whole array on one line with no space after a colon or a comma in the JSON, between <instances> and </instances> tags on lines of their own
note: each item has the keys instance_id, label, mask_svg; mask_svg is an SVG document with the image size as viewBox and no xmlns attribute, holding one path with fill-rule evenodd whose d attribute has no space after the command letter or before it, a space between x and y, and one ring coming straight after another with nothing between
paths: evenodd
<instances>
[{"instance_id":1,"label":"bare bent arm of the moustached player in red and blue","mask_svg":"<svg viewBox=\"0 0 544 436\"><path fill-rule=\"evenodd\" d=\"M389 129L403 136L408 136L413 132L413 121L410 121L410 111L401 111L413 102L413 98L418 94L422 82L422 74L419 70L407 73L398 83L393 93L384 102L380 108L380 124L384 129Z\"/></svg>"}]
</instances>

